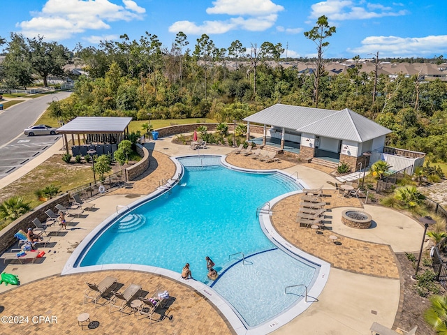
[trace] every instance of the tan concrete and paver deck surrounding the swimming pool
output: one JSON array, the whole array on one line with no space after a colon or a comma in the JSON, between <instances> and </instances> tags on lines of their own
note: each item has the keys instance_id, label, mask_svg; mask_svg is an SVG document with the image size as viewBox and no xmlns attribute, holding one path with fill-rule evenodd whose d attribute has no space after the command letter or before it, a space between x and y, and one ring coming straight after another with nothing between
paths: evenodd
<instances>
[{"instance_id":1,"label":"tan concrete and paver deck surrounding the swimming pool","mask_svg":"<svg viewBox=\"0 0 447 335\"><path fill-rule=\"evenodd\" d=\"M100 322L98 334L115 334L116 332L145 334L147 327L153 327L151 330L156 334L233 333L233 329L228 327L226 320L221 318L221 313L207 299L198 295L184 283L163 276L124 270L59 275L75 246L98 223L114 213L117 205L129 204L138 197L154 191L154 188L159 186L159 180L166 179L165 176L173 177L175 167L168 156L197 154L196 151L189 149L189 146L173 144L170 138L151 142L147 146L154 146L151 159L156 166L151 165L149 172L137 181L133 181L132 188L121 188L95 199L94 202L98 207L95 211L86 211L85 214L88 215L79 219L75 218L75 225L68 227L69 230L65 236L52 237L51 241L55 243L42 248L47 253L45 259L41 259L34 265L8 263L6 267L0 262L2 271L19 274L22 283L18 287L0 285L0 292L3 292L0 294L0 304L4 308L0 316L31 315L27 304L24 304L24 301L30 299L39 301L38 306L41 306L37 311L33 310L33 315L38 312L43 315L59 316L58 325L33 325L30 322L29 325L10 325L11 332L17 330L30 331L33 334L60 334L62 330L76 332L79 329L76 315L87 312L91 316L94 315L91 320ZM209 146L208 149L200 149L199 154L229 154L232 150L228 147ZM327 181L336 181L330 175L309 168L307 165L289 166L285 163L290 162L286 161L262 163L234 154L230 154L227 161L238 166L248 164L250 168L279 168L290 174L298 172L299 177L310 188L323 185L325 189L333 189ZM332 192L327 191L327 193ZM369 334L369 327L374 321L391 327L400 304L399 269L392 251L418 250L423 227L408 216L392 209L367 205L362 210L372 215L376 221L375 228L351 232L349 230L353 228L346 229L347 227L338 223L338 213L344 207L361 207L362 204L356 198L342 199L334 193L330 197L332 218L328 217L328 220L332 221L330 234L339 235L342 244L331 244L325 238L326 231L321 236L313 231L312 234L310 229L297 227L294 220L297 211L296 200L289 198L291 199L286 199L283 204L277 204L278 207L274 209L272 216L274 227L290 243L330 262L333 267L325 290L318 297L318 301L298 318L272 334ZM288 204L287 200L291 201L291 204ZM343 202L338 204L339 201ZM280 206L284 206L284 209ZM400 232L399 238L396 235L398 232ZM305 250L306 248L308 250ZM377 250L380 252L378 253ZM363 263L360 266L356 263L360 254L365 255L365 259L369 259L370 266L367 267L367 271L371 273L363 271ZM116 276L124 285L139 283L143 289L149 290L149 293L158 287L169 290L171 295L176 297L172 306L166 311L173 315L173 320L165 318L149 326L147 320L136 322L133 315L110 318L108 306L94 308L92 304L82 305L82 294L87 288L84 282L97 282L105 275ZM27 283L29 285L23 285ZM66 298L63 299L64 297ZM191 306L197 306L198 309L193 309ZM51 329L54 329L54 332Z\"/></svg>"}]
</instances>

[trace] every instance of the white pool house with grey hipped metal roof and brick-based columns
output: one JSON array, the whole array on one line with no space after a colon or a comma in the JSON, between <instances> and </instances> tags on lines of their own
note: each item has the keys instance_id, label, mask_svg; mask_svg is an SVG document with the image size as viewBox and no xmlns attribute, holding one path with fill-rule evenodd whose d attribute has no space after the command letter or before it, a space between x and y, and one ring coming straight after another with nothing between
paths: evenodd
<instances>
[{"instance_id":1,"label":"white pool house with grey hipped metal roof and brick-based columns","mask_svg":"<svg viewBox=\"0 0 447 335\"><path fill-rule=\"evenodd\" d=\"M247 121L247 140L250 124L261 124L263 137L254 140L257 145L321 165L337 167L339 163L347 163L356 171L360 163L365 166L365 162L369 165L391 160L394 170L411 166L412 173L425 156L386 147L386 135L392 131L349 108L325 110L278 103L243 120ZM402 159L393 160L389 156Z\"/></svg>"}]
</instances>

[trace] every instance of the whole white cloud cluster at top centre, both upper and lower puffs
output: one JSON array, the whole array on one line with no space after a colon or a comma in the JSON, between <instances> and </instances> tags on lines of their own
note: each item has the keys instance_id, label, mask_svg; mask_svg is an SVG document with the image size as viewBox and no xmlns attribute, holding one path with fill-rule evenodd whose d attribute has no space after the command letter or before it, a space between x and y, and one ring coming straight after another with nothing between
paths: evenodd
<instances>
[{"instance_id":1,"label":"whole white cloud cluster at top centre, both upper and lower puffs","mask_svg":"<svg viewBox=\"0 0 447 335\"><path fill-rule=\"evenodd\" d=\"M185 34L224 34L227 31L242 29L247 31L264 31L277 21L277 13L284 10L270 0L217 0L213 7L207 8L207 14L222 14L228 20L204 21L196 24L191 21L177 21L170 27L171 33L183 31Z\"/></svg>"}]
</instances>

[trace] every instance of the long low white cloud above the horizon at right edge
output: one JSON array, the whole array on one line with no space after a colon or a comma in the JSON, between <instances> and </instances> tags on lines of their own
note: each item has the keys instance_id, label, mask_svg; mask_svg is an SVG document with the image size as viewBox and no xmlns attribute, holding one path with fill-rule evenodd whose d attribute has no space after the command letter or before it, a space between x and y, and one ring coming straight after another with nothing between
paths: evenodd
<instances>
[{"instance_id":1,"label":"long low white cloud above the horizon at right edge","mask_svg":"<svg viewBox=\"0 0 447 335\"><path fill-rule=\"evenodd\" d=\"M379 51L381 57L416 57L447 52L447 35L409 37L369 36L362 46L347 51L353 54L369 54Z\"/></svg>"}]
</instances>

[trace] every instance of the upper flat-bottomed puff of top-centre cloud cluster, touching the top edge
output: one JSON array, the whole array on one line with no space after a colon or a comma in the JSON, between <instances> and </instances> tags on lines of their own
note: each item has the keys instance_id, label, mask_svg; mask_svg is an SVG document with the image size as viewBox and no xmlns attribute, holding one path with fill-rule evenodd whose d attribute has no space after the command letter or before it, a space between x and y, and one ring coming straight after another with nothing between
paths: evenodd
<instances>
[{"instance_id":1,"label":"upper flat-bottomed puff of top-centre cloud cluster, touching the top edge","mask_svg":"<svg viewBox=\"0 0 447 335\"><path fill-rule=\"evenodd\" d=\"M217 0L213 1L213 5L207 8L208 14L262 16L284 10L283 6L270 0Z\"/></svg>"}]
</instances>

